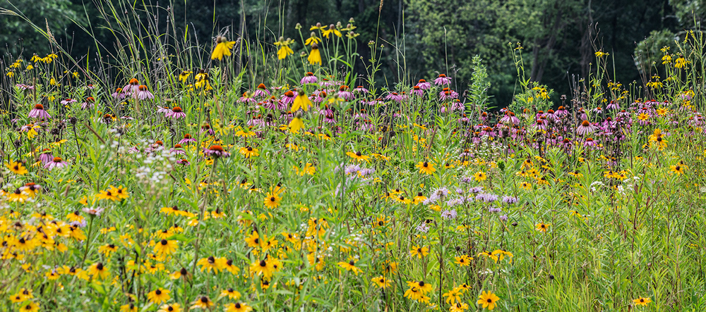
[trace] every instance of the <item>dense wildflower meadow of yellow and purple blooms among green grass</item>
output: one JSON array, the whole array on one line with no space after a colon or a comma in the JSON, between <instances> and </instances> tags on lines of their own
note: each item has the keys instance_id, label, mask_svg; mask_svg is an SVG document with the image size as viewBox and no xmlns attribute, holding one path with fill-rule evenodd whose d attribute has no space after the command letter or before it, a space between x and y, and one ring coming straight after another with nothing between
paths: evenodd
<instances>
[{"instance_id":1,"label":"dense wildflower meadow of yellow and purple blooms among green grass","mask_svg":"<svg viewBox=\"0 0 706 312\"><path fill-rule=\"evenodd\" d=\"M706 311L700 32L489 107L356 27L4 64L0 310Z\"/></svg>"}]
</instances>

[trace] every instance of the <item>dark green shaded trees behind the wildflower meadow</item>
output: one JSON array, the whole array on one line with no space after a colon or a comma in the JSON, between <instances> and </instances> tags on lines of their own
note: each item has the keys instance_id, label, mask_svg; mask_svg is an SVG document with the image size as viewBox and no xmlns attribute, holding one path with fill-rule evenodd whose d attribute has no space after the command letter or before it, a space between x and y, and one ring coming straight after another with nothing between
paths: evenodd
<instances>
[{"instance_id":1,"label":"dark green shaded trees behind the wildflower meadow","mask_svg":"<svg viewBox=\"0 0 706 312\"><path fill-rule=\"evenodd\" d=\"M126 2L0 0L0 8L21 12L40 27L48 25L59 44L80 59L95 52L95 39L102 43L101 49L116 49L111 44L113 33L102 27L107 22L102 17L101 4L106 1ZM524 48L527 75L555 89L555 96L559 96L570 94L572 75L589 75L597 49L609 53L614 72L611 80L626 85L639 81L640 68L650 68L652 62L659 61L663 46L674 46L675 39L683 39L685 30L698 28L706 17L706 0L127 2L138 11L156 13L154 24L163 28L158 32L175 27L189 32L205 48L225 27L231 34L271 44L280 36L299 39L297 23L304 26L302 32L308 37L311 25L346 25L353 18L360 34L357 39L362 58L370 58L367 43L376 36L378 44L384 45L384 76L380 78L383 83L393 85L400 77L416 82L446 73L455 78L457 89L462 92L472 75L472 57L480 55L489 69L490 94L496 106L507 104L517 87L512 58L517 42ZM167 22L168 12L173 12L174 25ZM301 44L292 47L295 51L303 48ZM4 60L1 67L19 54L28 59L32 54L44 56L49 51L49 42L22 19L0 15L0 55ZM360 62L359 67L359 73L364 74Z\"/></svg>"}]
</instances>

